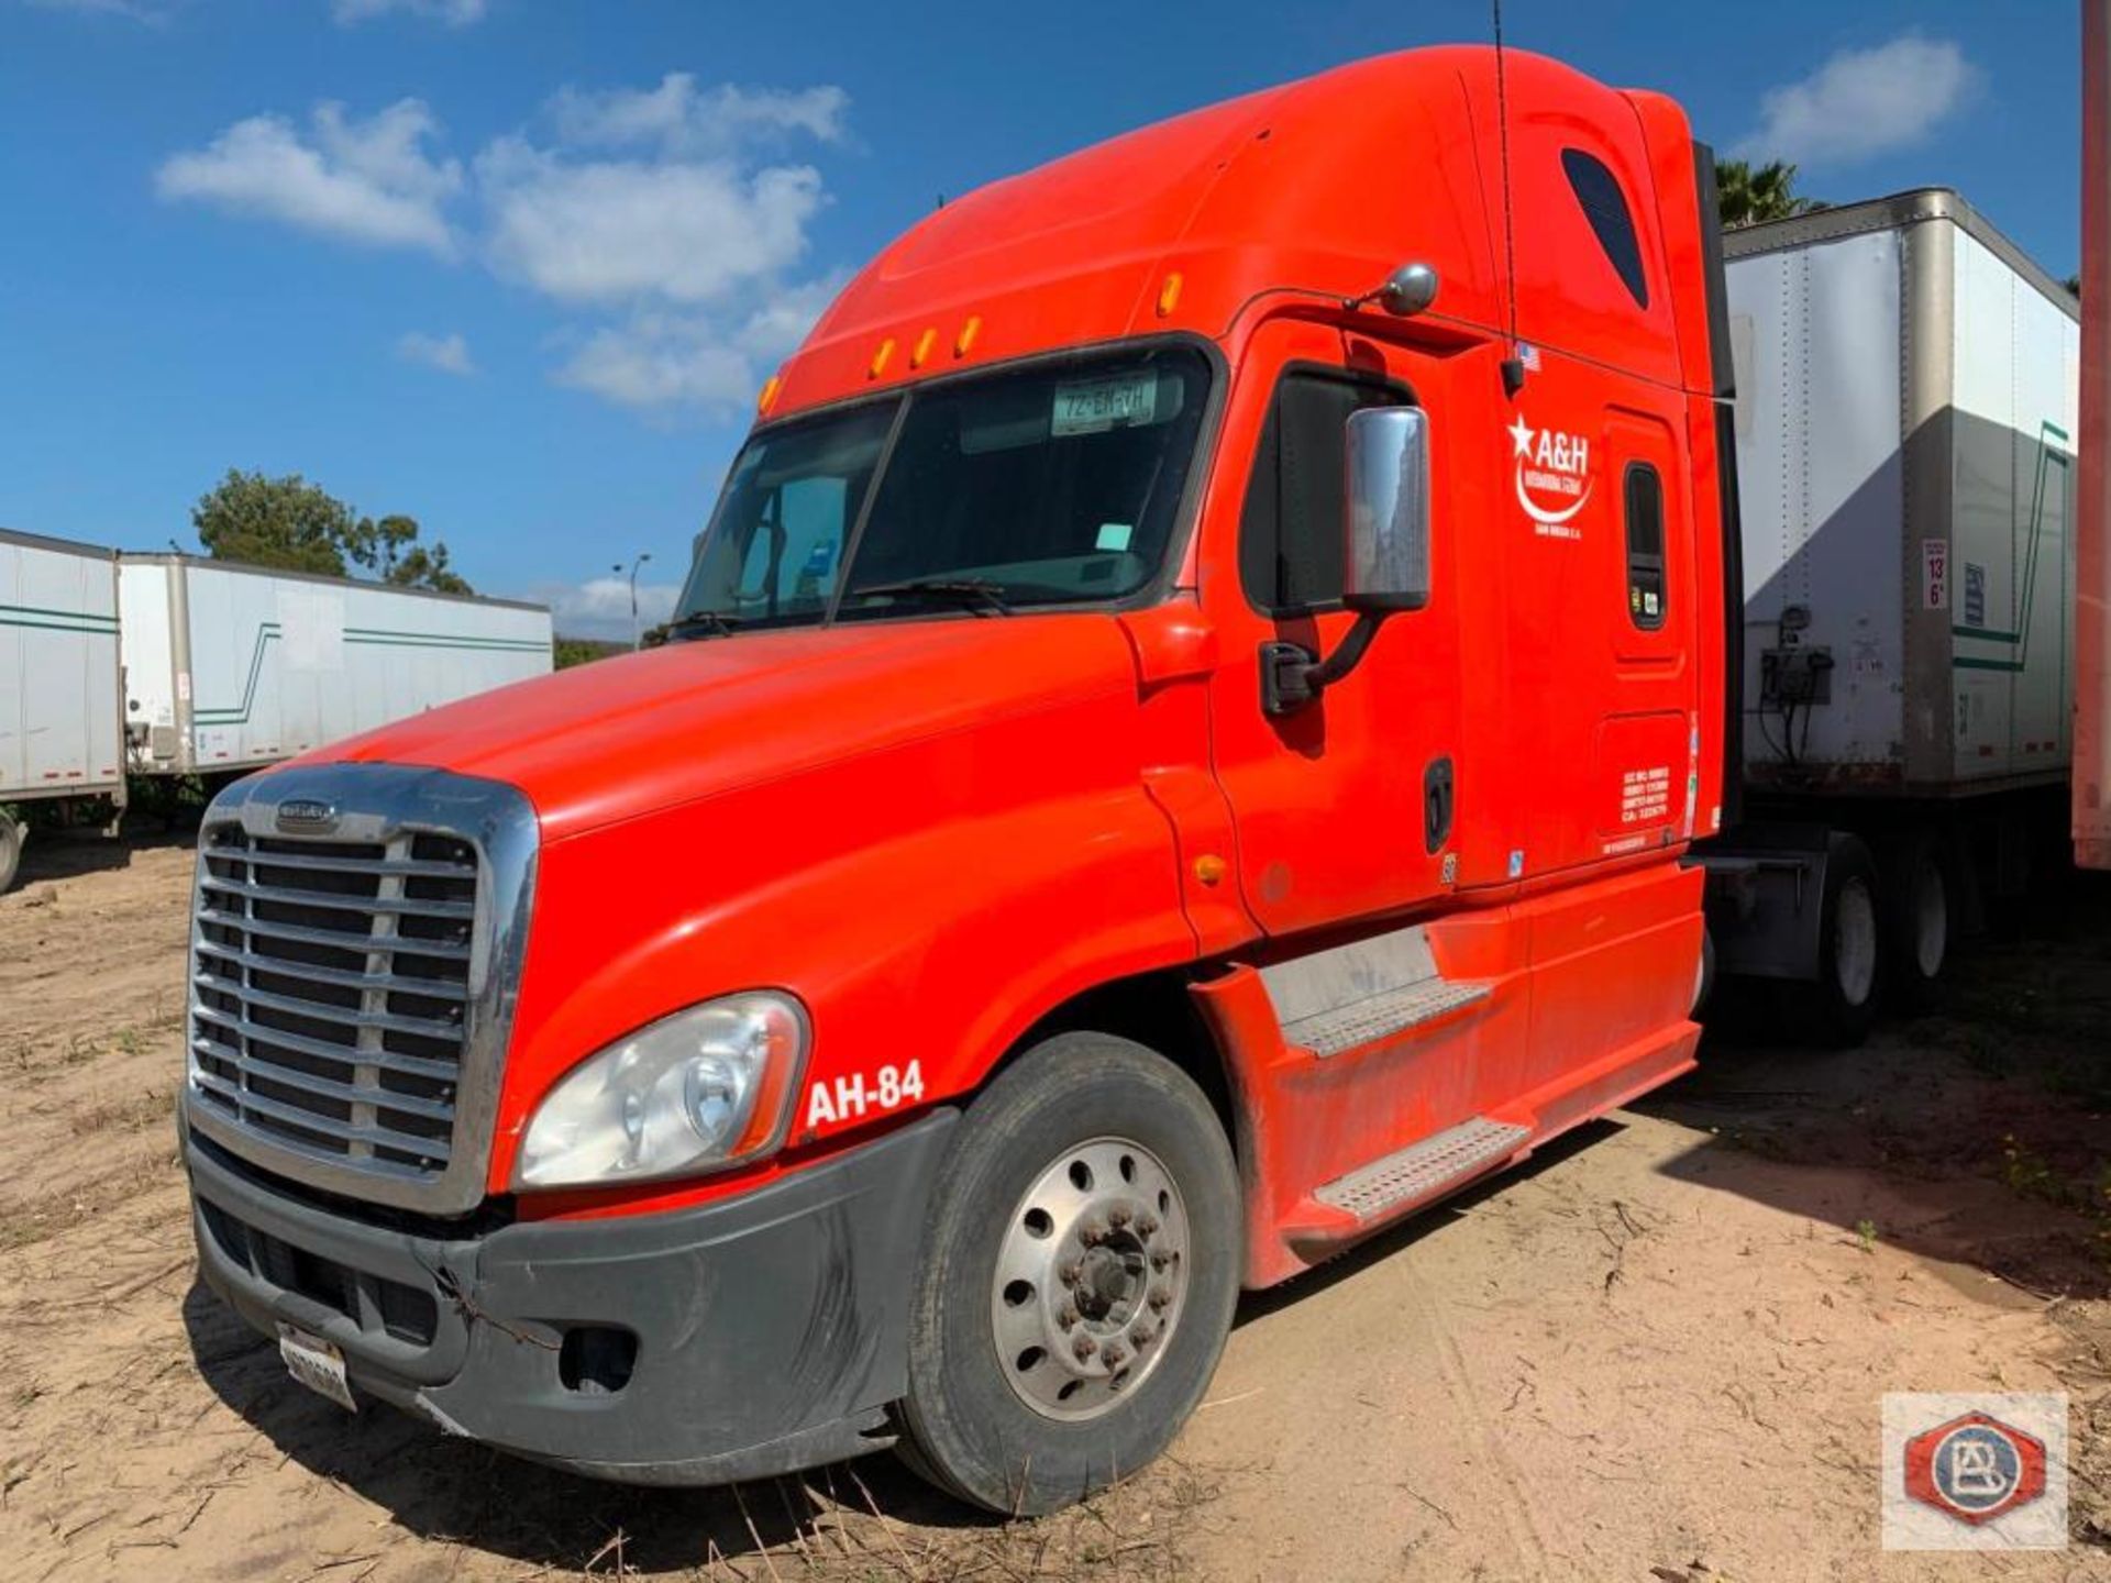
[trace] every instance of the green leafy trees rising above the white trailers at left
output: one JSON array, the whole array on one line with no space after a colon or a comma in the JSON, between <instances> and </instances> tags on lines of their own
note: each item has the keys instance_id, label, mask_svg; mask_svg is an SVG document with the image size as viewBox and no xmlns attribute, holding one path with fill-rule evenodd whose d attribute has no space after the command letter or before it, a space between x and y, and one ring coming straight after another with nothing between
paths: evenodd
<instances>
[{"instance_id":1,"label":"green leafy trees rising above the white trailers at left","mask_svg":"<svg viewBox=\"0 0 2111 1583\"><path fill-rule=\"evenodd\" d=\"M399 589L473 593L448 564L445 545L418 542L416 517L361 517L300 473L270 479L228 469L190 509L190 523L215 561L321 576L350 576L353 566L363 566Z\"/></svg>"}]
</instances>

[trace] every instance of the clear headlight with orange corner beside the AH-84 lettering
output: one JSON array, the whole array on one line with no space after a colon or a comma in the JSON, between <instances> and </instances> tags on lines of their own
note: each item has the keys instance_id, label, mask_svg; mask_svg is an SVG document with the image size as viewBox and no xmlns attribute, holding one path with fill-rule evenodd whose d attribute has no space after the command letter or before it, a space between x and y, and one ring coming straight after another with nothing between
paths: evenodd
<instances>
[{"instance_id":1,"label":"clear headlight with orange corner beside the AH-84 lettering","mask_svg":"<svg viewBox=\"0 0 2111 1583\"><path fill-rule=\"evenodd\" d=\"M790 994L752 990L676 1011L549 1091L513 1180L642 1182L752 1159L781 1142L804 1062L806 1013Z\"/></svg>"}]
</instances>

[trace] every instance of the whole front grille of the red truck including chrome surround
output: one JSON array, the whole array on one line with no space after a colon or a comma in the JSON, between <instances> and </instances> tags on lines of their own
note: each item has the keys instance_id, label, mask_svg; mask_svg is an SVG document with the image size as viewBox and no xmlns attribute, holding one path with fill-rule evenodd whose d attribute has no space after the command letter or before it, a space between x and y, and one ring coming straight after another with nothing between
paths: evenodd
<instances>
[{"instance_id":1,"label":"whole front grille of the red truck including chrome surround","mask_svg":"<svg viewBox=\"0 0 2111 1583\"><path fill-rule=\"evenodd\" d=\"M331 1193L477 1207L538 834L517 789L407 764L222 791L198 838L186 1125Z\"/></svg>"}]
</instances>

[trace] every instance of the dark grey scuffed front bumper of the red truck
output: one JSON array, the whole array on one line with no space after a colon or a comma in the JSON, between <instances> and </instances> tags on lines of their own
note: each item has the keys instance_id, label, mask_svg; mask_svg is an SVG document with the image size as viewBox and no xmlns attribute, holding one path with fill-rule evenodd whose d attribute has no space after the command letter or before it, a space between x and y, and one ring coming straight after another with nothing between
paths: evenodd
<instances>
[{"instance_id":1,"label":"dark grey scuffed front bumper of the red truck","mask_svg":"<svg viewBox=\"0 0 2111 1583\"><path fill-rule=\"evenodd\" d=\"M186 1136L198 1269L323 1336L357 1393L593 1477L726 1484L891 1444L939 1110L697 1209L441 1239L296 1199Z\"/></svg>"}]
</instances>

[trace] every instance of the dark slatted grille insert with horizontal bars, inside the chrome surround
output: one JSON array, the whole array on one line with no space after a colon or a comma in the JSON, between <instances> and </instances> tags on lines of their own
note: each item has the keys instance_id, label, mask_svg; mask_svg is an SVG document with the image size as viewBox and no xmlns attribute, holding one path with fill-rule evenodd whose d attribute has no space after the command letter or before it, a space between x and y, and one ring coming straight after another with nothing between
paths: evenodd
<instances>
[{"instance_id":1,"label":"dark slatted grille insert with horizontal bars, inside the chrome surround","mask_svg":"<svg viewBox=\"0 0 2111 1583\"><path fill-rule=\"evenodd\" d=\"M190 1076L298 1148L435 1176L469 1043L477 848L205 832Z\"/></svg>"}]
</instances>

